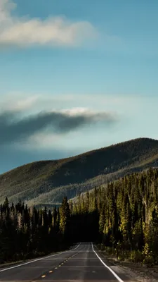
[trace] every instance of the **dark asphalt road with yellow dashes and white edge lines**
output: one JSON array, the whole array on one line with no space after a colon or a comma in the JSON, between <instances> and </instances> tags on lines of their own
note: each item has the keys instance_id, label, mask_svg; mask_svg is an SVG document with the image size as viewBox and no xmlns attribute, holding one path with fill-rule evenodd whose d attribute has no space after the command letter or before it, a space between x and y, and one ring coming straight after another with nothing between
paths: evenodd
<instances>
[{"instance_id":1,"label":"dark asphalt road with yellow dashes and white edge lines","mask_svg":"<svg viewBox=\"0 0 158 282\"><path fill-rule=\"evenodd\" d=\"M112 268L107 266L107 262L105 264L98 256L92 243L80 243L67 252L1 269L0 281L125 282L130 280L124 274L115 274Z\"/></svg>"}]
</instances>

